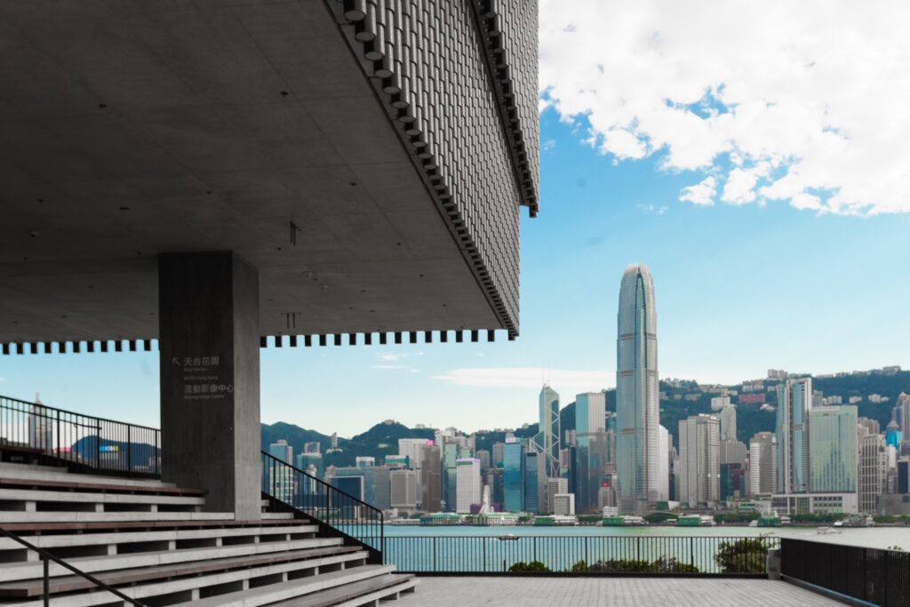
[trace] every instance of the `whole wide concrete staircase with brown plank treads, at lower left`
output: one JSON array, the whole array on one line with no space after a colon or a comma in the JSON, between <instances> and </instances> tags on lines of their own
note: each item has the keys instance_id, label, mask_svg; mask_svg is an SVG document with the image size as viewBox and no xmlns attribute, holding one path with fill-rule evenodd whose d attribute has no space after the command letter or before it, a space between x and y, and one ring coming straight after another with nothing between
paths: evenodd
<instances>
[{"instance_id":1,"label":"whole wide concrete staircase with brown plank treads, at lower left","mask_svg":"<svg viewBox=\"0 0 910 607\"><path fill-rule=\"evenodd\" d=\"M368 605L417 580L291 514L235 521L159 481L0 463L0 527L147 605ZM42 605L44 563L0 537L0 605ZM123 604L49 565L52 605Z\"/></svg>"}]
</instances>

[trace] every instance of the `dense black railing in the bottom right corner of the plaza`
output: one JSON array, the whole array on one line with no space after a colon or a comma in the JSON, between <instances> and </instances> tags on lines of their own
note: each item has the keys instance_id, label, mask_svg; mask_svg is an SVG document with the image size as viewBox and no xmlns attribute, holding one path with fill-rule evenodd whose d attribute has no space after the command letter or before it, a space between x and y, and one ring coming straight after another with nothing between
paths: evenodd
<instances>
[{"instance_id":1,"label":"dense black railing in the bottom right corner of the plaza","mask_svg":"<svg viewBox=\"0 0 910 607\"><path fill-rule=\"evenodd\" d=\"M876 605L910 605L910 552L784 538L781 575Z\"/></svg>"}]
</instances>

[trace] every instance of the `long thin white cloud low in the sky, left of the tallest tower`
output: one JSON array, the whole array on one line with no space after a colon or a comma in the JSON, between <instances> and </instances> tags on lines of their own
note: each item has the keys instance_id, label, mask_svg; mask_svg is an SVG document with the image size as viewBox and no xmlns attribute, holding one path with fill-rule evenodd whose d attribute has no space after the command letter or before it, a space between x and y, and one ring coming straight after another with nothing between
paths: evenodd
<instances>
[{"instance_id":1,"label":"long thin white cloud low in the sky, left of the tallest tower","mask_svg":"<svg viewBox=\"0 0 910 607\"><path fill-rule=\"evenodd\" d=\"M432 379L459 386L476 388L540 389L544 382L557 391L570 395L582 391L597 391L615 384L613 373L575 369L538 369L536 367L504 367L452 369L432 376ZM566 400L566 402L569 402Z\"/></svg>"}]
</instances>

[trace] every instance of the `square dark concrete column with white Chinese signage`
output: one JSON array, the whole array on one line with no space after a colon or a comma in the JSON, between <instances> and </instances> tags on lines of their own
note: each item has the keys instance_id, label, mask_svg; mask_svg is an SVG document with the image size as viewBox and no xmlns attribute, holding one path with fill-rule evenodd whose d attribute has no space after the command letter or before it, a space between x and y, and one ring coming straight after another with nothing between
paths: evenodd
<instances>
[{"instance_id":1,"label":"square dark concrete column with white Chinese signage","mask_svg":"<svg viewBox=\"0 0 910 607\"><path fill-rule=\"evenodd\" d=\"M258 270L231 252L158 258L162 479L259 519Z\"/></svg>"}]
</instances>

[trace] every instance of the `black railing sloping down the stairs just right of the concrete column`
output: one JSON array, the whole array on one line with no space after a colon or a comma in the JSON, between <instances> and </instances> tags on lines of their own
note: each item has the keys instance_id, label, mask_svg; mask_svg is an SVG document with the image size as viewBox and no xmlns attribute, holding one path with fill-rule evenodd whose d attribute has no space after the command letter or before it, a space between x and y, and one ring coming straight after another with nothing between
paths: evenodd
<instances>
[{"instance_id":1,"label":"black railing sloping down the stairs just right of the concrete column","mask_svg":"<svg viewBox=\"0 0 910 607\"><path fill-rule=\"evenodd\" d=\"M262 451L262 495L270 511L293 512L319 524L325 535L369 550L371 563L382 563L382 511L346 491L321 481Z\"/></svg>"}]
</instances>

